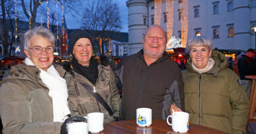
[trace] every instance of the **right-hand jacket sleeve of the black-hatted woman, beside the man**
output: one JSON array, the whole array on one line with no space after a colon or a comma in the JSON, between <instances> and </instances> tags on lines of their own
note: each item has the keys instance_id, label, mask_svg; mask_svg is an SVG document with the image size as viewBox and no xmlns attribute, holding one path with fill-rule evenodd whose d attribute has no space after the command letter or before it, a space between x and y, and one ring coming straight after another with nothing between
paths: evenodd
<instances>
[{"instance_id":1,"label":"right-hand jacket sleeve of the black-hatted woman, beside the man","mask_svg":"<svg viewBox=\"0 0 256 134\"><path fill-rule=\"evenodd\" d=\"M121 98L118 92L115 75L110 69L110 95L111 95L111 105L114 112L114 116L119 118L119 107L121 104Z\"/></svg>"}]
</instances>

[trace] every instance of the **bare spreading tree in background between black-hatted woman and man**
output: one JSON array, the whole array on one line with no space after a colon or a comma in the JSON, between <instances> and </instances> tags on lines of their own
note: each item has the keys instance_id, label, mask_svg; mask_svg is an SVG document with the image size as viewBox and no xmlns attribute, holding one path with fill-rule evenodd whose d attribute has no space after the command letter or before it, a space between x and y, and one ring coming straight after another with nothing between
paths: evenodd
<instances>
[{"instance_id":1,"label":"bare spreading tree in background between black-hatted woman and man","mask_svg":"<svg viewBox=\"0 0 256 134\"><path fill-rule=\"evenodd\" d=\"M121 29L121 20L117 3L112 0L93 0L85 7L83 12L83 29L92 31L95 42L100 48L100 39L102 39L102 53L104 50L103 42L110 38L110 31L119 31Z\"/></svg>"}]
</instances>

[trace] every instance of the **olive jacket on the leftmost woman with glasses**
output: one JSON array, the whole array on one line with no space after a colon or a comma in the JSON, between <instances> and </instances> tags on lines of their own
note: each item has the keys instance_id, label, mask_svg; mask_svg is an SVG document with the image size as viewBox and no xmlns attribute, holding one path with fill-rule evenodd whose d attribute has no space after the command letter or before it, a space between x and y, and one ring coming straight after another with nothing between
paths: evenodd
<instances>
[{"instance_id":1,"label":"olive jacket on the leftmost woman with glasses","mask_svg":"<svg viewBox=\"0 0 256 134\"><path fill-rule=\"evenodd\" d=\"M55 65L61 77L65 70ZM60 133L62 122L53 122L53 100L31 65L14 65L5 73L0 87L3 133Z\"/></svg>"}]
</instances>

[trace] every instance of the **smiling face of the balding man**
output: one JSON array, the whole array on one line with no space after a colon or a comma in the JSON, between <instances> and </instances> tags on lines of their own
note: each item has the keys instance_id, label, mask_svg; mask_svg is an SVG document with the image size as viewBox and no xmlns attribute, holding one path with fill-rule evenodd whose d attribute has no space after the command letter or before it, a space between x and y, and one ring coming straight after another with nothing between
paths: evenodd
<instances>
[{"instance_id":1,"label":"smiling face of the balding man","mask_svg":"<svg viewBox=\"0 0 256 134\"><path fill-rule=\"evenodd\" d=\"M165 32L159 26L152 26L146 31L146 35L142 42L144 58L158 59L165 51Z\"/></svg>"}]
</instances>

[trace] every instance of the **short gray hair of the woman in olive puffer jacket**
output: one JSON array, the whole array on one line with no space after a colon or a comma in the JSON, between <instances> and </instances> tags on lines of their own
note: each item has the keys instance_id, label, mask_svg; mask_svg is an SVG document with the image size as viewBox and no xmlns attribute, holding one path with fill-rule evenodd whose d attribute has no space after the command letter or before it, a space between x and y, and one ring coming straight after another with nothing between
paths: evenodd
<instances>
[{"instance_id":1,"label":"short gray hair of the woman in olive puffer jacket","mask_svg":"<svg viewBox=\"0 0 256 134\"><path fill-rule=\"evenodd\" d=\"M186 46L188 48L188 51L190 52L190 49L192 46L207 46L209 50L213 47L213 42L211 42L211 39L208 39L203 36L197 36L193 37L188 41L188 45Z\"/></svg>"}]
</instances>

